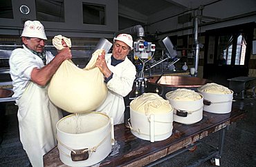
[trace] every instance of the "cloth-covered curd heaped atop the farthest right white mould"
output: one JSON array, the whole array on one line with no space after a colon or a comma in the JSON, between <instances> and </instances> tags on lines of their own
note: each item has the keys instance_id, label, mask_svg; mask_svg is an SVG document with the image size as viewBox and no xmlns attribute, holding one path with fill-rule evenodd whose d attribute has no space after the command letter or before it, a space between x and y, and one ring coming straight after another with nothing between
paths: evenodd
<instances>
[{"instance_id":1,"label":"cloth-covered curd heaped atop the farthest right white mould","mask_svg":"<svg viewBox=\"0 0 256 167\"><path fill-rule=\"evenodd\" d=\"M198 88L201 92L208 92L214 94L231 94L232 91L225 86L221 86L217 83L206 83L204 86Z\"/></svg>"}]
</instances>

